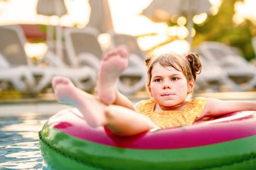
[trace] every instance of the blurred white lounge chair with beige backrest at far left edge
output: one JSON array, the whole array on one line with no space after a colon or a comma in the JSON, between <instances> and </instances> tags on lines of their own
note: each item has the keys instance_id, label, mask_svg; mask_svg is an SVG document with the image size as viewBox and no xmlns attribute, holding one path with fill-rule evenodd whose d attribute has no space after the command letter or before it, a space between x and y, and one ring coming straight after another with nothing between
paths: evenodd
<instances>
[{"instance_id":1,"label":"blurred white lounge chair with beige backrest at far left edge","mask_svg":"<svg viewBox=\"0 0 256 170\"><path fill-rule=\"evenodd\" d=\"M61 60L58 60L53 53L47 52L44 59L53 60L55 58L55 65L47 67L36 67L28 61L28 56L24 50L26 38L24 32L19 26L1 26L1 45L0 52L3 54L9 63L9 69L12 67L23 66L32 73L36 85L31 89L32 93L38 93L44 88L51 85L51 80L54 76L65 76L71 79L77 87L84 90L92 89L96 83L96 74L89 67L82 68L68 68ZM4 40L4 41L3 41Z\"/></svg>"}]
</instances>

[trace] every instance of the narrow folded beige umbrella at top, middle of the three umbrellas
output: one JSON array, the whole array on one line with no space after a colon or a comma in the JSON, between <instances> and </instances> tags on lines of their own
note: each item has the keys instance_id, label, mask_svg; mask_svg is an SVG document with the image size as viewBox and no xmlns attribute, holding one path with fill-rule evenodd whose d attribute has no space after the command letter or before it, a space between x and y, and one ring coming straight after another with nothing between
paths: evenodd
<instances>
[{"instance_id":1,"label":"narrow folded beige umbrella at top, middle of the three umbrellas","mask_svg":"<svg viewBox=\"0 0 256 170\"><path fill-rule=\"evenodd\" d=\"M113 30L113 22L108 5L108 0L89 0L91 7L88 26L104 33Z\"/></svg>"}]
</instances>

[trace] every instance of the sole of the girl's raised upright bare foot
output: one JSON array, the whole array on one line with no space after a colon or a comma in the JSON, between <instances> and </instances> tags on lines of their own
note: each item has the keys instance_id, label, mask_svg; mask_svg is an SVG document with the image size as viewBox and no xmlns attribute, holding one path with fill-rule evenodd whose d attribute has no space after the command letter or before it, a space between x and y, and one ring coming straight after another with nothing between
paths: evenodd
<instances>
[{"instance_id":1,"label":"sole of the girl's raised upright bare foot","mask_svg":"<svg viewBox=\"0 0 256 170\"><path fill-rule=\"evenodd\" d=\"M121 46L107 52L98 73L97 93L100 101L110 105L116 99L117 80L128 65L127 48Z\"/></svg>"}]
</instances>

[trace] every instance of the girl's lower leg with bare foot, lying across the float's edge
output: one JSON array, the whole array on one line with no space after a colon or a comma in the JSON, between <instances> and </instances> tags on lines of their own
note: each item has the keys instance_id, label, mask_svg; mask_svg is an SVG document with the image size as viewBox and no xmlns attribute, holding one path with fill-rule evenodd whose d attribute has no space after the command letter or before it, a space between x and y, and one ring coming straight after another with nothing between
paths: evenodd
<instances>
[{"instance_id":1,"label":"girl's lower leg with bare foot, lying across the float's edge","mask_svg":"<svg viewBox=\"0 0 256 170\"><path fill-rule=\"evenodd\" d=\"M96 128L107 126L114 134L130 136L157 126L146 116L119 105L105 105L84 91L77 89L69 79L53 79L55 97L60 103L71 105L84 115L86 122Z\"/></svg>"}]
</instances>

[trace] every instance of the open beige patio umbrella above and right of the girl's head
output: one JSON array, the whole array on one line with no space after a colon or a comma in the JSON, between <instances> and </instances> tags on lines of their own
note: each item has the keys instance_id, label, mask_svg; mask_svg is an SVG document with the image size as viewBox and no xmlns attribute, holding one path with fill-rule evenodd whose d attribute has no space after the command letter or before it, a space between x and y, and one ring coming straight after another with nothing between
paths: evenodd
<instances>
[{"instance_id":1,"label":"open beige patio umbrella above and right of the girl's head","mask_svg":"<svg viewBox=\"0 0 256 170\"><path fill-rule=\"evenodd\" d=\"M187 29L189 36L187 41L192 43L191 29L193 28L193 16L199 13L210 13L211 4L208 0L153 0L143 10L143 15L154 22L168 22L172 15L187 16Z\"/></svg>"}]
</instances>

